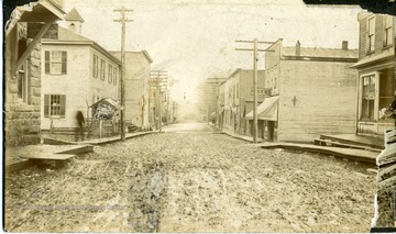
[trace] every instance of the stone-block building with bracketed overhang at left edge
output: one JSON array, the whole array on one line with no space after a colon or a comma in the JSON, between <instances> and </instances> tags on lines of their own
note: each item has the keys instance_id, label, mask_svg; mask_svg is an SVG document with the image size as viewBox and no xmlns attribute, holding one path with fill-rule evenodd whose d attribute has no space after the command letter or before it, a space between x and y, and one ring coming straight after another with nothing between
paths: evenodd
<instances>
[{"instance_id":1,"label":"stone-block building with bracketed overhang at left edge","mask_svg":"<svg viewBox=\"0 0 396 234\"><path fill-rule=\"evenodd\" d=\"M42 0L14 9L4 29L6 145L40 143L42 37L56 37L62 1Z\"/></svg>"}]
</instances>

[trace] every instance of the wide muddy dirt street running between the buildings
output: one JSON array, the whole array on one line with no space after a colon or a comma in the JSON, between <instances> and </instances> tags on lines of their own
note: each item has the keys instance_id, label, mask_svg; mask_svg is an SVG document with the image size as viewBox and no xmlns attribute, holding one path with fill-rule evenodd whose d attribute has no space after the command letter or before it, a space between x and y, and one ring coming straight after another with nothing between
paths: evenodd
<instances>
[{"instance_id":1,"label":"wide muddy dirt street running between the buildings","mask_svg":"<svg viewBox=\"0 0 396 234\"><path fill-rule=\"evenodd\" d=\"M12 232L369 232L375 174L179 124L6 177Z\"/></svg>"}]
</instances>

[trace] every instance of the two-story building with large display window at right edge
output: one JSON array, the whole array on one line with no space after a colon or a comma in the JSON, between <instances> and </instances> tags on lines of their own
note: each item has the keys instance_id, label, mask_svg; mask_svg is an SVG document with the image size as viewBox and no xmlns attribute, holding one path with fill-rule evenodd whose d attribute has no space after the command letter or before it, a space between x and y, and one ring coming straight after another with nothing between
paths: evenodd
<instances>
[{"instance_id":1,"label":"two-story building with large display window at right edge","mask_svg":"<svg viewBox=\"0 0 396 234\"><path fill-rule=\"evenodd\" d=\"M394 120L381 119L396 90L395 16L361 13L359 62L358 134L383 135L394 129Z\"/></svg>"}]
</instances>

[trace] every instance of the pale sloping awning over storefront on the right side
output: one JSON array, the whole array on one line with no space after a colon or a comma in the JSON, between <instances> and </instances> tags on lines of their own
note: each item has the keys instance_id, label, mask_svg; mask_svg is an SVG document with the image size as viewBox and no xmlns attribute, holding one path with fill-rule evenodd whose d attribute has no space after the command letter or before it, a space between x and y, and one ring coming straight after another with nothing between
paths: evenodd
<instances>
[{"instance_id":1,"label":"pale sloping awning over storefront on the right side","mask_svg":"<svg viewBox=\"0 0 396 234\"><path fill-rule=\"evenodd\" d=\"M277 102L279 97L265 98L264 102L257 107L257 120L277 121ZM248 120L253 120L253 111L245 116Z\"/></svg>"}]
</instances>

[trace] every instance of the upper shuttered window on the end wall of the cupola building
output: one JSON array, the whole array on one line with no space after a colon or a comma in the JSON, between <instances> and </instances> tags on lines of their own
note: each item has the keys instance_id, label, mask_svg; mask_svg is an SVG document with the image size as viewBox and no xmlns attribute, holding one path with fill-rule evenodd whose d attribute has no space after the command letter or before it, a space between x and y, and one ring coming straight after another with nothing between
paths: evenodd
<instances>
[{"instance_id":1,"label":"upper shuttered window on the end wall of the cupola building","mask_svg":"<svg viewBox=\"0 0 396 234\"><path fill-rule=\"evenodd\" d=\"M67 73L67 53L45 52L45 74L63 75Z\"/></svg>"}]
</instances>

